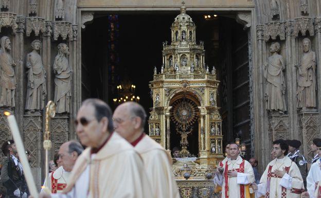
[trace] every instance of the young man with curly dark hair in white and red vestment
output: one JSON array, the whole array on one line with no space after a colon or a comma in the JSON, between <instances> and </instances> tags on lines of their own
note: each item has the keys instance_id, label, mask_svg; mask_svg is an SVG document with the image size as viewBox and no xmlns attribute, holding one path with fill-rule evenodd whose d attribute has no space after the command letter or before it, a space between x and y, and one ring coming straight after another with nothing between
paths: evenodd
<instances>
[{"instance_id":1,"label":"young man with curly dark hair in white and red vestment","mask_svg":"<svg viewBox=\"0 0 321 198\"><path fill-rule=\"evenodd\" d=\"M266 167L260 184L252 184L256 197L299 198L304 191L303 179L296 164L285 155L289 146L282 139L273 142L273 159Z\"/></svg>"}]
</instances>

